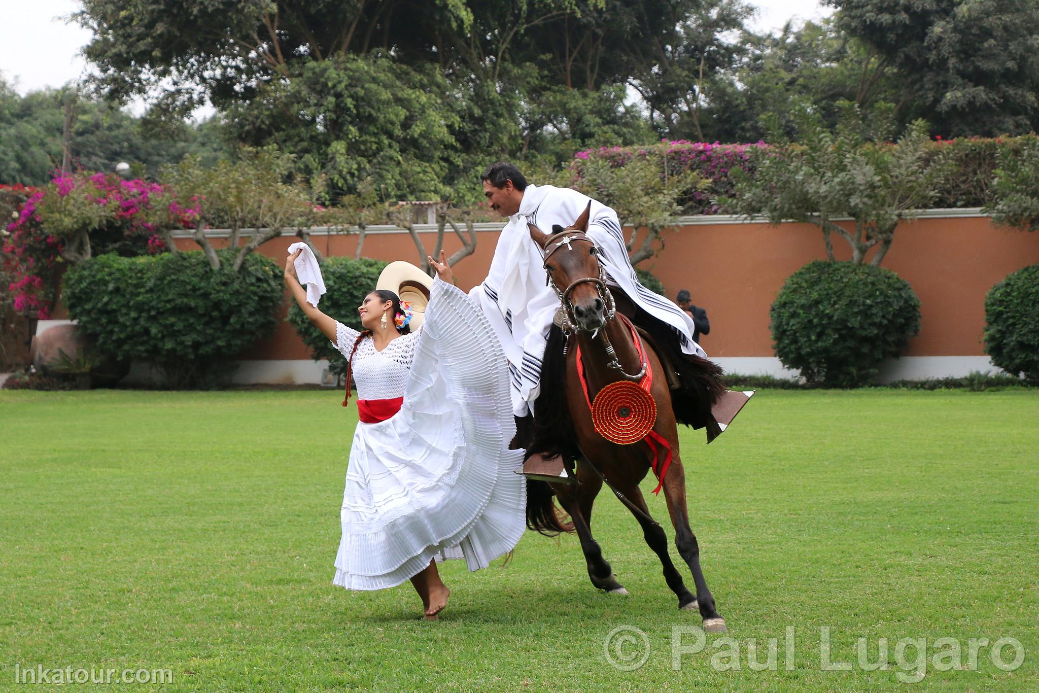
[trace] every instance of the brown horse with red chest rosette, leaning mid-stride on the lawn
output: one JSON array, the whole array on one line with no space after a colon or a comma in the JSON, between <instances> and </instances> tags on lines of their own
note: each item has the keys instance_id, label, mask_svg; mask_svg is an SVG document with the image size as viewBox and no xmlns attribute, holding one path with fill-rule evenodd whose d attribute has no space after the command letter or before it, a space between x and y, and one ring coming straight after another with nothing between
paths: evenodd
<instances>
[{"instance_id":1,"label":"brown horse with red chest rosette, leaning mid-stride on the lawn","mask_svg":"<svg viewBox=\"0 0 1039 693\"><path fill-rule=\"evenodd\" d=\"M652 343L637 335L631 323L621 317L622 314L617 313L615 299L606 286L598 250L585 235L588 216L589 209L585 209L574 225L565 230L557 225L552 235L530 225L531 238L544 252L548 281L562 303L562 314L557 323L561 321L563 327L554 327L550 335L545 367L551 370L550 361L557 352L565 355L556 358L559 372L542 372L542 394L535 406L534 439L528 452L537 450L537 453L544 453L551 449L547 456L562 454L570 470L574 469L571 460L577 460L574 471L577 484L528 481L531 491L528 522L542 533L577 532L592 584L607 592L627 594L591 535L592 503L606 482L641 525L646 543L663 564L667 586L678 597L678 608L698 608L704 630L721 633L725 631L725 619L716 610L715 599L700 569L699 547L690 529L686 509L686 475L678 455L678 435L669 388L669 376L673 370L672 373L665 372ZM636 344L636 340L640 344ZM579 373L579 351L587 391ZM646 441L627 445L612 443L596 431L590 404L611 383L629 380L643 383L644 389L647 375L651 378L648 392L656 402L656 422L651 428L656 435L650 433L647 439L657 441L657 444ZM562 379L565 396L558 394L557 381L551 383L557 393L547 392L550 390L547 378ZM707 406L710 406L710 401ZM629 415L627 408L621 411L621 416ZM547 434L545 431L553 427L555 433ZM667 445L662 445L662 441ZM669 448L671 452L670 465L666 470L662 463L666 455L664 448ZM666 472L663 490L675 530L674 542L692 571L695 595L690 593L671 562L667 535L649 515L639 489L639 482L650 470ZM556 514L550 486L569 514L571 524L563 523Z\"/></svg>"}]
</instances>

